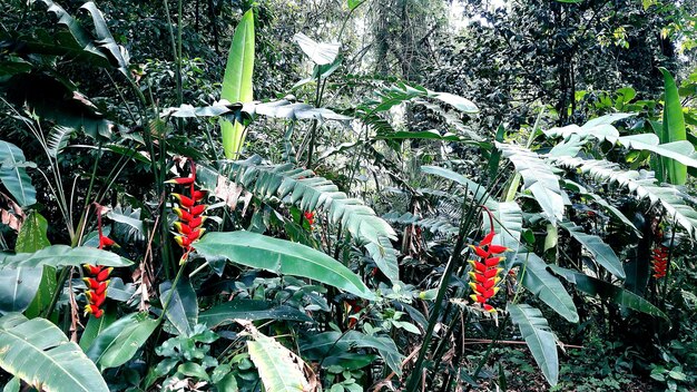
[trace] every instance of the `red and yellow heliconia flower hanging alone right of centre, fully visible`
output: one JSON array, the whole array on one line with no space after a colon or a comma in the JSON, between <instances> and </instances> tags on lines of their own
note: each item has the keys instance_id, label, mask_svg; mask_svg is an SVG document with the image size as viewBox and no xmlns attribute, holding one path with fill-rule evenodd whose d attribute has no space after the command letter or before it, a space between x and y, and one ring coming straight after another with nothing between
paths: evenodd
<instances>
[{"instance_id":1,"label":"red and yellow heliconia flower hanging alone right of centre, fully visible","mask_svg":"<svg viewBox=\"0 0 697 392\"><path fill-rule=\"evenodd\" d=\"M472 294L470 297L475 303L482 305L487 312L495 312L497 310L489 305L487 302L499 292L499 282L501 282L501 271L499 267L501 261L505 257L499 256L500 254L509 251L505 246L492 244L495 232L493 229L493 217L491 212L484 207L484 210L489 214L491 223L491 231L484 236L478 246L470 245L474 251L474 254L479 259L469 261L472 266L470 272L470 287L472 287Z\"/></svg>"}]
</instances>

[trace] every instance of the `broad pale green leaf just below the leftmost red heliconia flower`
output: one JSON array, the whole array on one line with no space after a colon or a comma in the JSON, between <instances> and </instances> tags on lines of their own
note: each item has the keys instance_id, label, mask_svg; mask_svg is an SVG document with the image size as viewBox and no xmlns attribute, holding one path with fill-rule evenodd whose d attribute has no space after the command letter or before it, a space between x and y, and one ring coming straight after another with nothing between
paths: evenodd
<instances>
[{"instance_id":1,"label":"broad pale green leaf just below the leftmost red heliconia flower","mask_svg":"<svg viewBox=\"0 0 697 392\"><path fill-rule=\"evenodd\" d=\"M100 369L130 361L159 323L145 313L131 313L107 326L87 349L87 356Z\"/></svg>"}]
</instances>

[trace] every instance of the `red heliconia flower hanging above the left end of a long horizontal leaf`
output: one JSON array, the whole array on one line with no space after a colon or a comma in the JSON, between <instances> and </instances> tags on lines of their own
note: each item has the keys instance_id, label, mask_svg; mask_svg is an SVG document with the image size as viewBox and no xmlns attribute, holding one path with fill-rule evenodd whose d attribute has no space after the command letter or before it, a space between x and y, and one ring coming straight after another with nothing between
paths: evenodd
<instances>
[{"instance_id":1,"label":"red heliconia flower hanging above the left end of a long horizontal leaf","mask_svg":"<svg viewBox=\"0 0 697 392\"><path fill-rule=\"evenodd\" d=\"M192 252L192 244L200 238L206 231L203 228L206 217L203 215L206 210L206 205L200 202L206 197L206 192L196 189L196 164L192 158L188 158L190 174L188 177L178 177L167 180L168 184L184 185L188 188L188 196L173 193L171 196L177 199L177 207L173 210L179 218L175 222L174 227L176 229L175 241L181 248L184 248L184 255L180 263L185 263L188 254Z\"/></svg>"}]
</instances>

